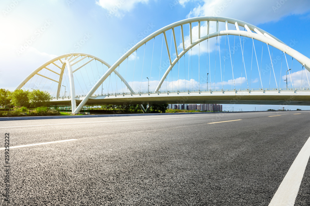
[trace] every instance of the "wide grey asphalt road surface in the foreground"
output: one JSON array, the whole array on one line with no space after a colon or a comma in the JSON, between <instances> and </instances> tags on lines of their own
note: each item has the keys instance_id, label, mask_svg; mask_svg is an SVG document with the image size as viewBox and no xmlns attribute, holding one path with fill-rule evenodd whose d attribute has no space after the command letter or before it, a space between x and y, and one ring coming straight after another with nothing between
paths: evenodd
<instances>
[{"instance_id":1,"label":"wide grey asphalt road surface in the foreground","mask_svg":"<svg viewBox=\"0 0 310 206\"><path fill-rule=\"evenodd\" d=\"M11 148L0 204L268 205L309 125L309 111L1 121L1 145L76 140ZM295 205L309 183L308 162Z\"/></svg>"}]
</instances>

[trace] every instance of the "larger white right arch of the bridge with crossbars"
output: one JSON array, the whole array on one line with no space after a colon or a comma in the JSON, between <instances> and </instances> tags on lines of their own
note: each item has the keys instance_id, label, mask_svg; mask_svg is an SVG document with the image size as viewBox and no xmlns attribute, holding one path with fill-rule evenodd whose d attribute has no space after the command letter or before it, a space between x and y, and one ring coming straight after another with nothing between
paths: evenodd
<instances>
[{"instance_id":1,"label":"larger white right arch of the bridge with crossbars","mask_svg":"<svg viewBox=\"0 0 310 206\"><path fill-rule=\"evenodd\" d=\"M201 22L207 22L207 27L208 27L208 34L206 36L200 37L200 33L198 35L198 40L192 41L192 26L191 24L194 22L198 22L199 26ZM216 27L216 32L209 34L209 25L210 21L215 21L217 22L217 27ZM224 31L218 31L218 22L225 22L226 23L226 30ZM191 39L191 44L185 48L184 46L184 32L183 32L183 25L184 24L190 24L190 39ZM237 30L228 30L228 23L236 25ZM137 43L134 47L132 47L128 52L126 52L121 58L119 58L111 67L108 69L108 71L100 78L100 80L93 86L93 88L88 92L86 97L82 100L82 102L79 104L79 106L76 108L74 113L78 113L81 108L87 103L87 100L91 95L94 94L95 90L98 89L98 87L102 84L102 82L105 81L105 79L117 68L118 65L120 65L124 60L126 60L127 57L129 57L132 53L134 53L139 47L144 45L146 42L149 40L152 40L154 37L164 34L165 36L165 42L166 42L166 47L167 51L169 53L169 47L166 41L166 31L172 29L172 32L174 33L174 28L181 26L181 32L182 32L182 40L183 40L183 51L178 54L176 44L176 58L174 61L171 61L170 54L168 54L169 59L170 59L170 66L166 70L164 76L162 77L161 81L159 82L156 91L159 90L160 86L162 85L163 80L166 78L167 74L170 72L172 67L176 64L178 59L183 56L190 48L193 46L197 45L199 42L215 37L215 36L223 36L223 35L236 35L236 36L245 36L249 38L253 38L255 40L259 40L263 43L270 44L275 48L278 48L282 52L287 53L291 57L294 57L297 61L299 61L303 66L305 66L308 71L310 71L310 59L303 54L299 53L298 51L290 48L286 44L284 44L281 40L277 39L275 36L272 36L268 32L260 29L259 27L256 27L254 25L251 25L249 23L239 21L237 19L231 19L231 18L225 18L225 17L195 17L195 18L190 18L190 19L185 19L179 22L172 23L166 27L163 27L162 29L157 30L156 32L152 33L151 35L145 37L143 40L141 40L139 43ZM239 26L244 27L246 31L240 31ZM199 29L200 31L200 29ZM175 41L175 35L174 35L174 41ZM150 105L149 105L150 107ZM148 107L148 110L149 110ZM147 112L148 112L147 110Z\"/></svg>"}]
</instances>

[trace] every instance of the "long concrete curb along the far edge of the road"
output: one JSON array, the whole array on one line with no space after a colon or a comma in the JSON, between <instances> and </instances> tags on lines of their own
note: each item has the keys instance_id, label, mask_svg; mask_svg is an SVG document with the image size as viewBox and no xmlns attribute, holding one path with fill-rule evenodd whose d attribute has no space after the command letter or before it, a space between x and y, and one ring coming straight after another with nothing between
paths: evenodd
<instances>
[{"instance_id":1,"label":"long concrete curb along the far edge of the road","mask_svg":"<svg viewBox=\"0 0 310 206\"><path fill-rule=\"evenodd\" d=\"M305 110L303 110L305 111ZM113 115L77 115L77 116L24 116L24 117L0 117L0 121L12 120L48 120L48 119L71 119L90 117L118 117L118 116L154 116L154 115L184 115L184 114L220 114L220 113L245 113L263 111L217 111L217 112L179 112L179 113L148 113L148 114L113 114ZM268 111L270 112L270 111ZM272 111L281 112L281 111Z\"/></svg>"}]
</instances>

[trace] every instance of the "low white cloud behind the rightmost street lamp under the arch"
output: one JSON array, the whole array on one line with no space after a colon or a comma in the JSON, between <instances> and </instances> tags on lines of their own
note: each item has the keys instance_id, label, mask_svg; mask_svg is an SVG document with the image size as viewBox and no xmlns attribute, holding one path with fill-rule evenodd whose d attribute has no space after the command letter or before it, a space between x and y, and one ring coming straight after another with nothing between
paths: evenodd
<instances>
[{"instance_id":1,"label":"low white cloud behind the rightmost street lamp under the arch","mask_svg":"<svg viewBox=\"0 0 310 206\"><path fill-rule=\"evenodd\" d=\"M287 73L287 86L291 87L292 82L293 82L294 88L309 88L307 75L310 80L310 72L308 70L307 70L307 74L304 69L297 71L297 72L290 73L290 74ZM282 80L286 80L286 75L282 76ZM284 83L286 87L286 82L284 81Z\"/></svg>"}]
</instances>

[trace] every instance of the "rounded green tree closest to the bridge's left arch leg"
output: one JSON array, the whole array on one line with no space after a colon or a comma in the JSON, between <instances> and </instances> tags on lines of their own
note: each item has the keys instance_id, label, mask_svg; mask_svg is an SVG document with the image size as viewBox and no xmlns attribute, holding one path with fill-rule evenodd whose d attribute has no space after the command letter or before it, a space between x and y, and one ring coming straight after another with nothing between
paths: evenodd
<instances>
[{"instance_id":1,"label":"rounded green tree closest to the bridge's left arch leg","mask_svg":"<svg viewBox=\"0 0 310 206\"><path fill-rule=\"evenodd\" d=\"M33 90L28 94L31 107L48 107L52 96L47 91Z\"/></svg>"}]
</instances>

